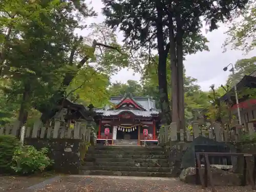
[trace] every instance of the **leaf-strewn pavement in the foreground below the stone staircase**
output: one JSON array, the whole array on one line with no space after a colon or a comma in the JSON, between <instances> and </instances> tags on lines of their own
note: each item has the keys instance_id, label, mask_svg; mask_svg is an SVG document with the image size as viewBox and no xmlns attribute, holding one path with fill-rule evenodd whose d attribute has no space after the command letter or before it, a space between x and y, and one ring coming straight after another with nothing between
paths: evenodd
<instances>
[{"instance_id":1,"label":"leaf-strewn pavement in the foreground below the stone staircase","mask_svg":"<svg viewBox=\"0 0 256 192\"><path fill-rule=\"evenodd\" d=\"M219 192L245 192L252 191L248 187L216 187ZM29 192L27 189L24 192ZM175 178L150 177L117 177L117 176L67 176L45 186L33 190L40 192L197 192L211 191L201 189L201 186L188 185ZM23 191L22 191L23 192Z\"/></svg>"}]
</instances>

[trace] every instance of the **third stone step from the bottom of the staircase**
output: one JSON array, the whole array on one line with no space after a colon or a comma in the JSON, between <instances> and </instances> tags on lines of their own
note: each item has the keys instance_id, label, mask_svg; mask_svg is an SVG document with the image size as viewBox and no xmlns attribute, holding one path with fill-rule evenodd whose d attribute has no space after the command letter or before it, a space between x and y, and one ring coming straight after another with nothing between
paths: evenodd
<instances>
[{"instance_id":1,"label":"third stone step from the bottom of the staircase","mask_svg":"<svg viewBox=\"0 0 256 192\"><path fill-rule=\"evenodd\" d=\"M81 163L84 166L95 166L95 165L100 165L100 166L128 166L128 167L133 167L133 166L140 166L140 167L168 167L167 162L162 162L161 164L159 163L152 163L152 162L82 162Z\"/></svg>"}]
</instances>

